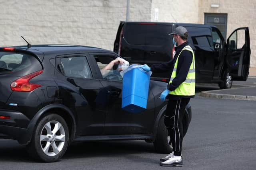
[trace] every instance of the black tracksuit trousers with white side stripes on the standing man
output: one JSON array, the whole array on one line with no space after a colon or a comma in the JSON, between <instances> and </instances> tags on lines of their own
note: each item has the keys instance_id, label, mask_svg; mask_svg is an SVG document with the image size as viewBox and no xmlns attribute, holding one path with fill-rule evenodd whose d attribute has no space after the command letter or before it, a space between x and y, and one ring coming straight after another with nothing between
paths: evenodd
<instances>
[{"instance_id":1,"label":"black tracksuit trousers with white side stripes on the standing man","mask_svg":"<svg viewBox=\"0 0 256 170\"><path fill-rule=\"evenodd\" d=\"M164 124L168 129L170 140L175 156L180 156L183 141L183 125L182 120L185 113L185 107L190 98L181 98L179 100L170 100L166 108L164 116Z\"/></svg>"}]
</instances>

